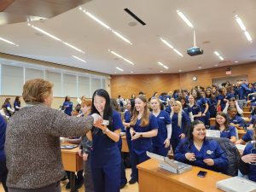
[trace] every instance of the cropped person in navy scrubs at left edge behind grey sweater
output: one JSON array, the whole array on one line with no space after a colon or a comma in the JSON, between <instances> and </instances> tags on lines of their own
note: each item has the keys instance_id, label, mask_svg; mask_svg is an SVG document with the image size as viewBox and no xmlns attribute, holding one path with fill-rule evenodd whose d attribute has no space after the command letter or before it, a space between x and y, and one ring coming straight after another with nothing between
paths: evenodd
<instances>
[{"instance_id":1,"label":"cropped person in navy scrubs at left edge behind grey sweater","mask_svg":"<svg viewBox=\"0 0 256 192\"><path fill-rule=\"evenodd\" d=\"M3 183L3 189L8 192L6 187L7 178L7 168L6 168L6 157L4 153L4 143L5 143L5 132L6 132L6 122L0 114L0 183Z\"/></svg>"}]
</instances>

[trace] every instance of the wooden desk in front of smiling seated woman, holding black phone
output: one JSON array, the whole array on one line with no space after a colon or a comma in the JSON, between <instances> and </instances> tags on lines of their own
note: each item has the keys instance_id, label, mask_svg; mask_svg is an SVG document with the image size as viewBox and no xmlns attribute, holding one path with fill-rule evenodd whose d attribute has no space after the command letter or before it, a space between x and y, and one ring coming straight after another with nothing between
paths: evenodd
<instances>
[{"instance_id":1,"label":"wooden desk in front of smiling seated woman, holding black phone","mask_svg":"<svg viewBox=\"0 0 256 192\"><path fill-rule=\"evenodd\" d=\"M138 165L140 192L188 192L188 191L222 191L216 188L216 182L230 176L212 172L197 166L192 171L180 175L167 172L160 167L157 160L147 160ZM199 171L206 171L206 177L197 177Z\"/></svg>"}]
</instances>

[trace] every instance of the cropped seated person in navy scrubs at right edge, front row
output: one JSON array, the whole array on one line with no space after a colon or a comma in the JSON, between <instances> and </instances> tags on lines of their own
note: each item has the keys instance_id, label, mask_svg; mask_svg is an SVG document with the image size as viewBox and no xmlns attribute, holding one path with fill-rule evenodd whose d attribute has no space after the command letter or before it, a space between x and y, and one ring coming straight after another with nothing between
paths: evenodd
<instances>
[{"instance_id":1,"label":"cropped seated person in navy scrubs at right edge, front row","mask_svg":"<svg viewBox=\"0 0 256 192\"><path fill-rule=\"evenodd\" d=\"M254 129L256 126L254 126ZM253 182L256 182L256 135L253 133L253 141L251 143L247 143L246 148L243 151L241 156L241 162L239 166L239 170L241 174L248 175L248 178Z\"/></svg>"}]
</instances>

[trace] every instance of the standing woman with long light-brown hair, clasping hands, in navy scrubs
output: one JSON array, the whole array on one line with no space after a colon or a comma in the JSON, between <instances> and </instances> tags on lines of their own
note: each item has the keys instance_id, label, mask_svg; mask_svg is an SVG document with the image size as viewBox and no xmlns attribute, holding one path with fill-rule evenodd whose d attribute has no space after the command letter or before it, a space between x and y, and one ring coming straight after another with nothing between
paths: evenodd
<instances>
[{"instance_id":1,"label":"standing woman with long light-brown hair, clasping hands, in navy scrubs","mask_svg":"<svg viewBox=\"0 0 256 192\"><path fill-rule=\"evenodd\" d=\"M135 177L130 184L138 180L137 165L148 160L147 151L152 152L151 137L157 136L157 120L148 110L147 100L144 96L137 96L135 99L135 110L131 119L131 167L134 169Z\"/></svg>"}]
</instances>

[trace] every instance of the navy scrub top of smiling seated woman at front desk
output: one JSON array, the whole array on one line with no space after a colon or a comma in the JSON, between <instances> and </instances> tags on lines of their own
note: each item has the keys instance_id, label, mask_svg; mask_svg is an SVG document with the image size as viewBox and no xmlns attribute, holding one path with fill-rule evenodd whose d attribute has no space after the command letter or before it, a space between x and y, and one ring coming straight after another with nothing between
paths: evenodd
<instances>
[{"instance_id":1,"label":"navy scrub top of smiling seated woman at front desk","mask_svg":"<svg viewBox=\"0 0 256 192\"><path fill-rule=\"evenodd\" d=\"M194 153L196 160L187 160L185 157L186 153ZM214 165L207 166L203 161L205 159L212 159L214 161ZM214 140L205 140L201 149L198 150L195 148L193 141L188 141L188 138L184 138L177 146L174 160L181 161L192 166L200 166L214 172L224 172L229 166L229 160L227 159L224 151Z\"/></svg>"}]
</instances>

